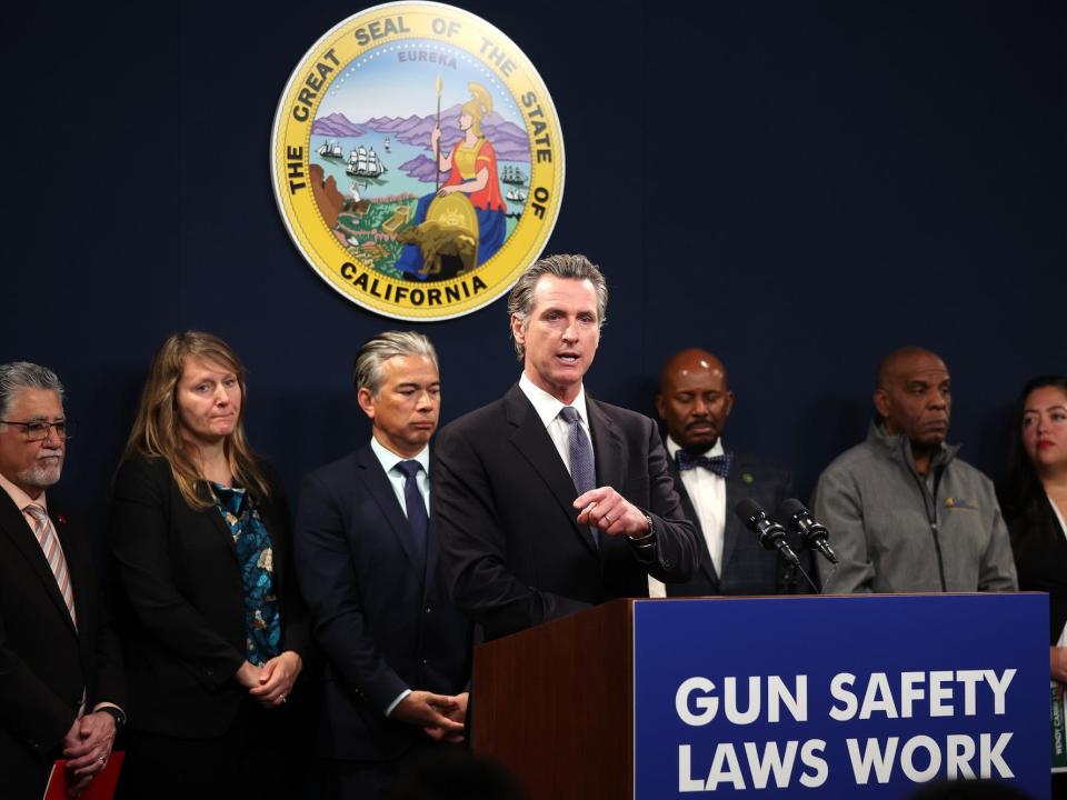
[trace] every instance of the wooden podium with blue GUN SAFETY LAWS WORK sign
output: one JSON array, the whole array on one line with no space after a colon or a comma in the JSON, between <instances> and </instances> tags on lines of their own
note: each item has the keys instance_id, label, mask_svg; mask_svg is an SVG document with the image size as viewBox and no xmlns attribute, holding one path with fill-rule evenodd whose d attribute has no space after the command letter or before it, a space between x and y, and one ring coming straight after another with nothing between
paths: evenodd
<instances>
[{"instance_id":1,"label":"wooden podium with blue GUN SAFETY LAWS WORK sign","mask_svg":"<svg viewBox=\"0 0 1067 800\"><path fill-rule=\"evenodd\" d=\"M616 600L476 648L472 744L534 800L1038 800L1047 630L1026 593Z\"/></svg>"}]
</instances>

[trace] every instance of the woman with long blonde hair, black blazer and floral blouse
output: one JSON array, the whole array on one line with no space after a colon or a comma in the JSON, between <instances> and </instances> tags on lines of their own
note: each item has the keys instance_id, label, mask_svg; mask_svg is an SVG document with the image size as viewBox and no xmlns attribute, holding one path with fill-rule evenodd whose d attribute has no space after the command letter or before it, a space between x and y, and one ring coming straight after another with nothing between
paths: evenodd
<instances>
[{"instance_id":1,"label":"woman with long blonde hair, black blazer and floral blouse","mask_svg":"<svg viewBox=\"0 0 1067 800\"><path fill-rule=\"evenodd\" d=\"M286 797L308 629L286 499L208 333L156 353L111 497L130 683L127 798Z\"/></svg>"}]
</instances>

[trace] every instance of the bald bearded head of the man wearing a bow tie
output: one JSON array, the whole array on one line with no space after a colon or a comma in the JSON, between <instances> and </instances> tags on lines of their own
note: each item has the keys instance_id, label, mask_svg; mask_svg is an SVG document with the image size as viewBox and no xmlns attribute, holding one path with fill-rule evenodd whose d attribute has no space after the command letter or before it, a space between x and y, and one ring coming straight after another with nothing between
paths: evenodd
<instances>
[{"instance_id":1,"label":"bald bearded head of the man wearing a bow tie","mask_svg":"<svg viewBox=\"0 0 1067 800\"><path fill-rule=\"evenodd\" d=\"M681 350L664 364L656 410L684 450L701 453L715 447L732 408L726 367L707 350Z\"/></svg>"}]
</instances>

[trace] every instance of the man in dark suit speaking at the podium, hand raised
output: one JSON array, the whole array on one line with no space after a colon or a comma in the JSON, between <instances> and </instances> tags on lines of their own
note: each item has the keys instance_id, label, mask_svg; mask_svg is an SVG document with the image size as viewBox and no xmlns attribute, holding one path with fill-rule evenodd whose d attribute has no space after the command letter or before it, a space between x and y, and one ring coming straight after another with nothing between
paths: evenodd
<instances>
[{"instance_id":1,"label":"man in dark suit speaking at the podium, hand raised","mask_svg":"<svg viewBox=\"0 0 1067 800\"><path fill-rule=\"evenodd\" d=\"M647 597L648 576L685 581L697 564L656 424L582 388L607 303L585 256L531 264L508 298L518 384L438 436L442 558L486 639Z\"/></svg>"}]
</instances>

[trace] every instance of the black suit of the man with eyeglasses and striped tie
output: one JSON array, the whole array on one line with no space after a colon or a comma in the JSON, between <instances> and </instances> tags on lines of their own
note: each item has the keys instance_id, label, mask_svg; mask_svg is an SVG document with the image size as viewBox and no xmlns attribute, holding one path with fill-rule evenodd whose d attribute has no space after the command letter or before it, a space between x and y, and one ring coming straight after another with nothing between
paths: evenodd
<instances>
[{"instance_id":1,"label":"black suit of the man with eyeglasses and striped tie","mask_svg":"<svg viewBox=\"0 0 1067 800\"><path fill-rule=\"evenodd\" d=\"M121 652L98 592L91 543L56 511L49 498L77 630L37 537L0 489L0 797L12 800L43 794L82 690L89 710L100 701L126 708Z\"/></svg>"}]
</instances>

